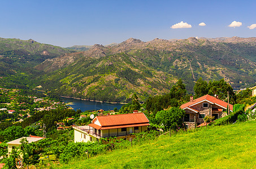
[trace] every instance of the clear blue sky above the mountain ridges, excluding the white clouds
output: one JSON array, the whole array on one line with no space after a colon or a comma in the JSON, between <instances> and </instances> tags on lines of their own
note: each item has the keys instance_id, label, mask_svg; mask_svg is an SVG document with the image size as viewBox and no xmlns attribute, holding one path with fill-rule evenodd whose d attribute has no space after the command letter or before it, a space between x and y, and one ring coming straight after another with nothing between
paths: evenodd
<instances>
[{"instance_id":1,"label":"clear blue sky above the mountain ridges, excluding the white clouds","mask_svg":"<svg viewBox=\"0 0 256 169\"><path fill-rule=\"evenodd\" d=\"M133 37L256 37L256 1L6 1L0 37L34 39L62 47L107 45ZM172 29L183 21L192 28ZM233 21L242 23L229 27ZM199 26L205 23L206 26Z\"/></svg>"}]
</instances>

